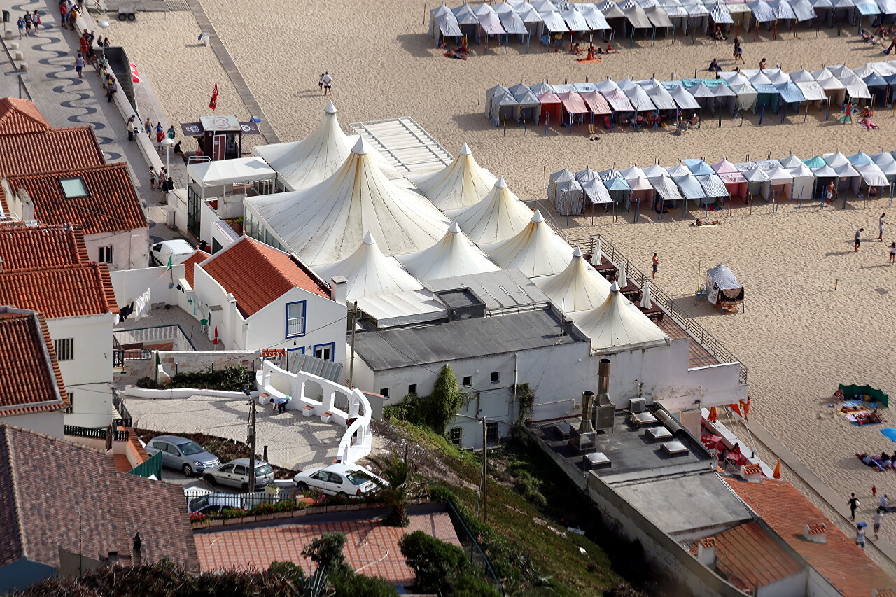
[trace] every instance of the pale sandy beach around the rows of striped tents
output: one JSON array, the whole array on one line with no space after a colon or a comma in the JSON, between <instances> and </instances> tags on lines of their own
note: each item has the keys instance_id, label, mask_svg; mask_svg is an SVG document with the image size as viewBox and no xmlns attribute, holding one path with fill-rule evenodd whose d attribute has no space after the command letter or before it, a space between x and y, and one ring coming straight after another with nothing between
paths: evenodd
<instances>
[{"instance_id":1,"label":"pale sandy beach around the rows of striped tents","mask_svg":"<svg viewBox=\"0 0 896 597\"><path fill-rule=\"evenodd\" d=\"M460 61L444 58L426 36L424 15L433 3L260 0L251 14L234 0L202 0L202 6L283 141L301 139L318 125L327 99L317 89L317 76L327 70L334 77L332 99L343 127L414 117L454 154L462 143L470 143L479 163L504 175L523 199L542 198L545 173L564 167L624 168L654 160L671 166L684 158L742 161L747 155L780 158L790 151L807 158L812 153L894 148L896 117L891 110L878 110L875 120L882 130L870 133L833 118L823 122L823 114L812 110L805 123L802 115L788 117L785 124L771 117L762 126L754 117L742 126L724 117L720 126L718 120L706 121L681 137L668 131L628 131L601 133L599 142L588 141L584 127L573 134L554 128L544 136L544 127L524 135L514 126L504 134L482 115L484 91L498 82L584 82L607 76L668 80L673 74L693 76L694 69L705 69L714 57L731 70L730 41L697 39L691 45L690 38L661 38L652 48L624 47L622 54L590 65L576 64L573 56L547 54L541 46L533 45L530 55L512 45L508 54L501 48L482 56L481 48L472 45L474 56ZM136 24L114 22L109 35L125 45L151 79L173 122L208 114L215 81L218 113L248 116L211 49L196 42L199 29L190 13L141 13ZM836 30L822 30L818 37L814 30L800 31L798 39L784 31L778 40L761 42L754 42L752 33L743 37L746 68L757 68L763 57L788 72L824 65L857 67L887 57L880 48L859 43L854 28L840 38ZM769 38L763 30L762 39ZM645 271L650 255L659 253L659 285L749 367L751 416L842 494L844 504L855 491L870 518L871 486L896 498L896 473L876 474L853 454L892 451L896 444L880 435L882 426L854 427L827 403L840 382L882 387L896 400L890 344L896 266L886 265L884 248L896 240L896 207L887 203L886 198L875 200L865 208L853 199L847 210L838 203L837 209L823 212L817 203L800 212L788 204L772 213L760 201L752 214L740 206L730 216L714 215L723 223L712 229L650 217L635 224L631 214L620 214L616 223L603 217L593 226L573 219L568 234L606 235ZM892 221L883 244L876 242L881 212L888 212ZM557 221L565 224L565 219ZM852 238L859 227L866 229L867 242L854 254ZM743 314L720 316L704 299L694 298L702 281L698 268L702 265L705 272L719 263L727 264L745 285ZM891 420L888 425L896 426L896 414L885 416ZM762 456L774 464L771 454ZM819 501L813 493L807 495ZM896 541L896 522L885 520L882 535Z\"/></svg>"}]
</instances>

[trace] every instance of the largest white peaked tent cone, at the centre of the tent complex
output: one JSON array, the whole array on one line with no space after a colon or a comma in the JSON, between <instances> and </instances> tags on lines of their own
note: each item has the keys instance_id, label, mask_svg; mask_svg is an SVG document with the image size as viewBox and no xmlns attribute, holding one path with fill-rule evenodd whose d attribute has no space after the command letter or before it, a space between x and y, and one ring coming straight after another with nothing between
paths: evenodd
<instances>
[{"instance_id":1,"label":"largest white peaked tent cone, at the centre of the tent complex","mask_svg":"<svg viewBox=\"0 0 896 597\"><path fill-rule=\"evenodd\" d=\"M345 259L368 231L386 255L433 246L449 222L426 197L386 178L374 153L359 138L349 159L319 185L252 197L246 207L313 266Z\"/></svg>"}]
</instances>

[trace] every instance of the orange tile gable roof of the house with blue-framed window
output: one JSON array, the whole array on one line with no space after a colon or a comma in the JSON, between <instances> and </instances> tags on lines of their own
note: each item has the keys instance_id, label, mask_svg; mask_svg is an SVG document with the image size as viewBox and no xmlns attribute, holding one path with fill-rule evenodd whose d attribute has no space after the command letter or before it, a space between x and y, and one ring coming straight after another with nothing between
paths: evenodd
<instances>
[{"instance_id":1,"label":"orange tile gable roof of the house with blue-framed window","mask_svg":"<svg viewBox=\"0 0 896 597\"><path fill-rule=\"evenodd\" d=\"M327 287L297 259L254 238L240 238L201 267L233 294L244 317L253 316L293 288L330 297Z\"/></svg>"}]
</instances>

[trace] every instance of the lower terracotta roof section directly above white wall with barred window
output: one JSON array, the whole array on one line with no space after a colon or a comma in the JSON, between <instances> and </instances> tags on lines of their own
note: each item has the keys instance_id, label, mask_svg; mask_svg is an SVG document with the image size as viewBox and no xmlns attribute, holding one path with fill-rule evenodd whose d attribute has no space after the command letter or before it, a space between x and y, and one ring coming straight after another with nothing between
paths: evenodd
<instances>
[{"instance_id":1,"label":"lower terracotta roof section directly above white wall with barred window","mask_svg":"<svg viewBox=\"0 0 896 597\"><path fill-rule=\"evenodd\" d=\"M0 272L0 305L50 319L118 313L108 265L95 263Z\"/></svg>"}]
</instances>

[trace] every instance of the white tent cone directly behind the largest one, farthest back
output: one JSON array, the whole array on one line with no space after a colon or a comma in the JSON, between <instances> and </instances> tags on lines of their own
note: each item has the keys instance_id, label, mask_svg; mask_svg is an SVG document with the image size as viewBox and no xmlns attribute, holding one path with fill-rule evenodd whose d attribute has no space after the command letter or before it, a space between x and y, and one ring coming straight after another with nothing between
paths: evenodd
<instances>
[{"instance_id":1,"label":"white tent cone directly behind the largest one, farthest back","mask_svg":"<svg viewBox=\"0 0 896 597\"><path fill-rule=\"evenodd\" d=\"M323 182L340 169L351 153L351 140L342 133L336 111L332 101L329 102L323 108L321 125L302 141L258 145L253 151L277 170L290 190L297 191ZM400 177L379 154L375 157L378 161L382 160L380 168L386 170L388 177Z\"/></svg>"}]
</instances>

